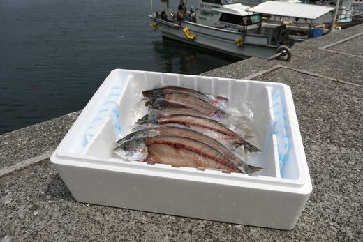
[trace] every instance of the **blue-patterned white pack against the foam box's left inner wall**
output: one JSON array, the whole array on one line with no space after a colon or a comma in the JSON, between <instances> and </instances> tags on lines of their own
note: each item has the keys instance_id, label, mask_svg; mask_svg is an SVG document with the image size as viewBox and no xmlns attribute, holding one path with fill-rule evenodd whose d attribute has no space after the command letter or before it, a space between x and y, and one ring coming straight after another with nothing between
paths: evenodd
<instances>
[{"instance_id":1,"label":"blue-patterned white pack against the foam box's left inner wall","mask_svg":"<svg viewBox=\"0 0 363 242\"><path fill-rule=\"evenodd\" d=\"M119 139L121 136L122 129L119 110L117 109L117 99L119 98L122 89L123 86L114 86L112 88L112 92L105 98L103 105L98 110L94 119L89 124L89 128L87 128L86 132L84 133L82 144L83 148L87 146L89 141L94 137L94 134L97 132L98 128L101 126L101 123L103 123L106 118L110 118L112 120L112 125L114 126L114 131L117 136L116 139Z\"/></svg>"}]
</instances>

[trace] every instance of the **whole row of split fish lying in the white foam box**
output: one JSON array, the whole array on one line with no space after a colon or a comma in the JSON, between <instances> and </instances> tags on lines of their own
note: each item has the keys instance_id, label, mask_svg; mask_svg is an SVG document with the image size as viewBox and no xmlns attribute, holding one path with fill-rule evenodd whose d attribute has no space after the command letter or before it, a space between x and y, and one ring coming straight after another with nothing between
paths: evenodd
<instances>
[{"instance_id":1,"label":"whole row of split fish lying in the white foam box","mask_svg":"<svg viewBox=\"0 0 363 242\"><path fill-rule=\"evenodd\" d=\"M249 131L244 122L253 118L248 108L239 112L227 106L227 98L178 86L142 95L149 114L137 121L137 131L117 142L114 152L121 158L246 174L261 169L247 165L246 154L236 149L260 151L244 139Z\"/></svg>"}]
</instances>

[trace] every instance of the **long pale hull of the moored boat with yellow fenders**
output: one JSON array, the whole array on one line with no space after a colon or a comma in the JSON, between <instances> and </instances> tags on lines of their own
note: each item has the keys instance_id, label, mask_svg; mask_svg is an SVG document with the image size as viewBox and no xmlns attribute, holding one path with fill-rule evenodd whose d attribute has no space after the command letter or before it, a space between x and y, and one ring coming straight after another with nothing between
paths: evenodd
<instances>
[{"instance_id":1,"label":"long pale hull of the moored boat with yellow fenders","mask_svg":"<svg viewBox=\"0 0 363 242\"><path fill-rule=\"evenodd\" d=\"M276 53L277 46L268 45L269 39L267 36L258 36L247 34L244 36L242 47L235 44L235 40L242 37L242 33L235 31L226 31L206 27L192 22L181 22L172 24L164 20L154 20L163 35L163 38L178 40L183 43L203 47L230 56L236 56L242 59L252 56L267 59ZM189 39L183 29L187 27L188 31L195 35L195 38Z\"/></svg>"}]
</instances>

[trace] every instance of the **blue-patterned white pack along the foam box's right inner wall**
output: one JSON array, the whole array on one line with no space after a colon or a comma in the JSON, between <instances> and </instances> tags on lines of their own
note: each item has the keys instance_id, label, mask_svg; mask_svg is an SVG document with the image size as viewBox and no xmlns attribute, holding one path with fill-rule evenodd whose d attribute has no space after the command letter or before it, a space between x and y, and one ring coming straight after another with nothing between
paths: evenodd
<instances>
[{"instance_id":1,"label":"blue-patterned white pack along the foam box's right inner wall","mask_svg":"<svg viewBox=\"0 0 363 242\"><path fill-rule=\"evenodd\" d=\"M286 105L279 91L272 95L272 107L274 108L274 123L272 133L276 135L277 151L279 153L280 172L287 162L288 151L290 149L290 135L288 134L288 116L286 114Z\"/></svg>"}]
</instances>

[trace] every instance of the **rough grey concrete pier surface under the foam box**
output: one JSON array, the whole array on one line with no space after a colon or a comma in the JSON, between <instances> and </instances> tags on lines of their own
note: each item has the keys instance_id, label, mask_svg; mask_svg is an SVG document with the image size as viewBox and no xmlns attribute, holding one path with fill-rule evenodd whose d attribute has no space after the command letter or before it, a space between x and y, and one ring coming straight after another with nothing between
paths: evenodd
<instances>
[{"instance_id":1,"label":"rough grey concrete pier surface under the foam box","mask_svg":"<svg viewBox=\"0 0 363 242\"><path fill-rule=\"evenodd\" d=\"M50 154L75 112L0 135L0 241L362 241L363 24L203 75L292 89L313 192L290 231L82 204Z\"/></svg>"}]
</instances>

